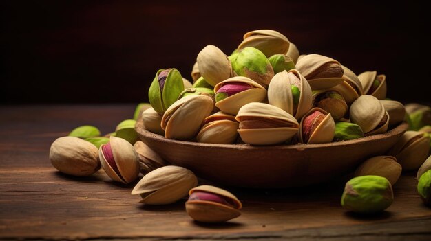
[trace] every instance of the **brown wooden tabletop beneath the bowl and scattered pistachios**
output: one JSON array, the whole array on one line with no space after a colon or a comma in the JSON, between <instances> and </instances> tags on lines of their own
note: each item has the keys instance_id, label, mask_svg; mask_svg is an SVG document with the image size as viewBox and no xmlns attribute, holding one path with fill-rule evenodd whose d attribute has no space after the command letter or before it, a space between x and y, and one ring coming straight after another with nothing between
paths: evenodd
<instances>
[{"instance_id":1,"label":"brown wooden tabletop beneath the bowl and scattered pistachios","mask_svg":"<svg viewBox=\"0 0 431 241\"><path fill-rule=\"evenodd\" d=\"M77 178L48 159L57 137L83 124L110 133L134 105L0 106L0 238L141 240L431 240L431 209L416 191L414 173L394 187L382 214L341 208L346 178L307 188L250 190L224 187L242 200L242 216L220 225L193 222L181 200L148 206L132 185L100 170Z\"/></svg>"}]
</instances>

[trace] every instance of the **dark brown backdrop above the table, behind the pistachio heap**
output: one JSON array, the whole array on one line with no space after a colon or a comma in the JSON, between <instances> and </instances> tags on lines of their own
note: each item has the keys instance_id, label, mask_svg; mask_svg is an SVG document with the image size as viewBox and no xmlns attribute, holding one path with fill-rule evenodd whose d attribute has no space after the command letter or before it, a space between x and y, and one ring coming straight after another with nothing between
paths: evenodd
<instances>
[{"instance_id":1,"label":"dark brown backdrop above the table, behind the pistachio heap","mask_svg":"<svg viewBox=\"0 0 431 241\"><path fill-rule=\"evenodd\" d=\"M430 102L429 11L412 1L1 1L0 100L146 102L158 69L185 78L200 49L230 54L250 30L301 53L386 73L388 97Z\"/></svg>"}]
</instances>

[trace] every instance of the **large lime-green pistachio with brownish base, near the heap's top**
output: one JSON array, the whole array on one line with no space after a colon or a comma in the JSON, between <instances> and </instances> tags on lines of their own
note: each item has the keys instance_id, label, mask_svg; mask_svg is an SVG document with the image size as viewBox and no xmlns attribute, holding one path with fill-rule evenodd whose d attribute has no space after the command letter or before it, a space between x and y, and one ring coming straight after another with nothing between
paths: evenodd
<instances>
[{"instance_id":1,"label":"large lime-green pistachio with brownish base, near the heap's top","mask_svg":"<svg viewBox=\"0 0 431 241\"><path fill-rule=\"evenodd\" d=\"M262 87L268 87L274 71L268 58L259 49L244 47L235 56L232 67L238 76L251 78Z\"/></svg>"}]
</instances>

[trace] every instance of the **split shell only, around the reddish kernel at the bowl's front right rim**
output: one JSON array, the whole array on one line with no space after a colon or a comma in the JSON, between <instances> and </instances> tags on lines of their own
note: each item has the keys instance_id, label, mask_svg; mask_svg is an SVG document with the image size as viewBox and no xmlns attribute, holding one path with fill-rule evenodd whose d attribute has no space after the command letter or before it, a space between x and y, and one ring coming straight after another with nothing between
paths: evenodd
<instances>
[{"instance_id":1,"label":"split shell only, around the reddish kernel at the bowl's front right rim","mask_svg":"<svg viewBox=\"0 0 431 241\"><path fill-rule=\"evenodd\" d=\"M308 141L304 138L304 124L305 119L308 115L312 115L315 111L319 111L324 114L325 117L322 121L315 127L313 133L311 133L310 137L308 137ZM330 113L326 112L322 108L312 108L308 113L302 117L301 122L299 124L299 141L305 144L318 144L318 143L328 143L334 139L335 135L335 122L333 117L331 117ZM306 141L306 142L305 142Z\"/></svg>"}]
</instances>

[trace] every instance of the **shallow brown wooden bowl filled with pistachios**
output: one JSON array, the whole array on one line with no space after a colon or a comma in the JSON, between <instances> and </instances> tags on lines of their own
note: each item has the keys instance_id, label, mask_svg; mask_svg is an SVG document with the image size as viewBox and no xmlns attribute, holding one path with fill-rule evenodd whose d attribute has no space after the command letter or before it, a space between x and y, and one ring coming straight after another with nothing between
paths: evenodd
<instances>
[{"instance_id":1,"label":"shallow brown wooden bowl filled with pistachios","mask_svg":"<svg viewBox=\"0 0 431 241\"><path fill-rule=\"evenodd\" d=\"M137 122L140 139L172 165L209 181L237 187L295 187L321 183L384 154L407 130L401 123L387 133L328 144L250 146L166 139Z\"/></svg>"}]
</instances>

